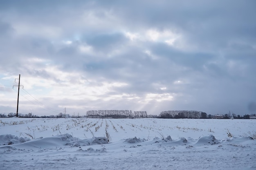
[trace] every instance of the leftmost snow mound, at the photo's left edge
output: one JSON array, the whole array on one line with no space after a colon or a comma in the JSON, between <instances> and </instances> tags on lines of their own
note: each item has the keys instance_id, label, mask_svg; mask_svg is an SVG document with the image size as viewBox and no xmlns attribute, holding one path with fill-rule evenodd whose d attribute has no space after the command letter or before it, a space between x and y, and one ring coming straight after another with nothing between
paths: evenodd
<instances>
[{"instance_id":1,"label":"leftmost snow mound, at the photo's left edge","mask_svg":"<svg viewBox=\"0 0 256 170\"><path fill-rule=\"evenodd\" d=\"M30 139L27 137L17 137L14 135L0 135L0 146L1 145L21 144L26 141L30 141Z\"/></svg>"}]
</instances>

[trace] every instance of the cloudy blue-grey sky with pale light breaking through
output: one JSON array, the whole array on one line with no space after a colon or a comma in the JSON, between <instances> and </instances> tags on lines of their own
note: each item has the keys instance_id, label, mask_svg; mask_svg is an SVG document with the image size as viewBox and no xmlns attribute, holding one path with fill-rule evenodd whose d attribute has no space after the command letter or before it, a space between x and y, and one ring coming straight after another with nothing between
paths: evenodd
<instances>
[{"instance_id":1,"label":"cloudy blue-grey sky with pale light breaking through","mask_svg":"<svg viewBox=\"0 0 256 170\"><path fill-rule=\"evenodd\" d=\"M0 113L256 113L254 0L0 2Z\"/></svg>"}]
</instances>

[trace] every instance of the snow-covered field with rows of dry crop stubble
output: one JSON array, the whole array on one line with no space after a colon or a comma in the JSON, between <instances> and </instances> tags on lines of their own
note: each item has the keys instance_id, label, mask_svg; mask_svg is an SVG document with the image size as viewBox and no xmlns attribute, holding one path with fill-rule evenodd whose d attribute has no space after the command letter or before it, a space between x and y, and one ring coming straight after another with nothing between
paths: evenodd
<instances>
[{"instance_id":1,"label":"snow-covered field with rows of dry crop stubble","mask_svg":"<svg viewBox=\"0 0 256 170\"><path fill-rule=\"evenodd\" d=\"M0 118L0 169L256 170L255 131L252 119Z\"/></svg>"}]
</instances>

